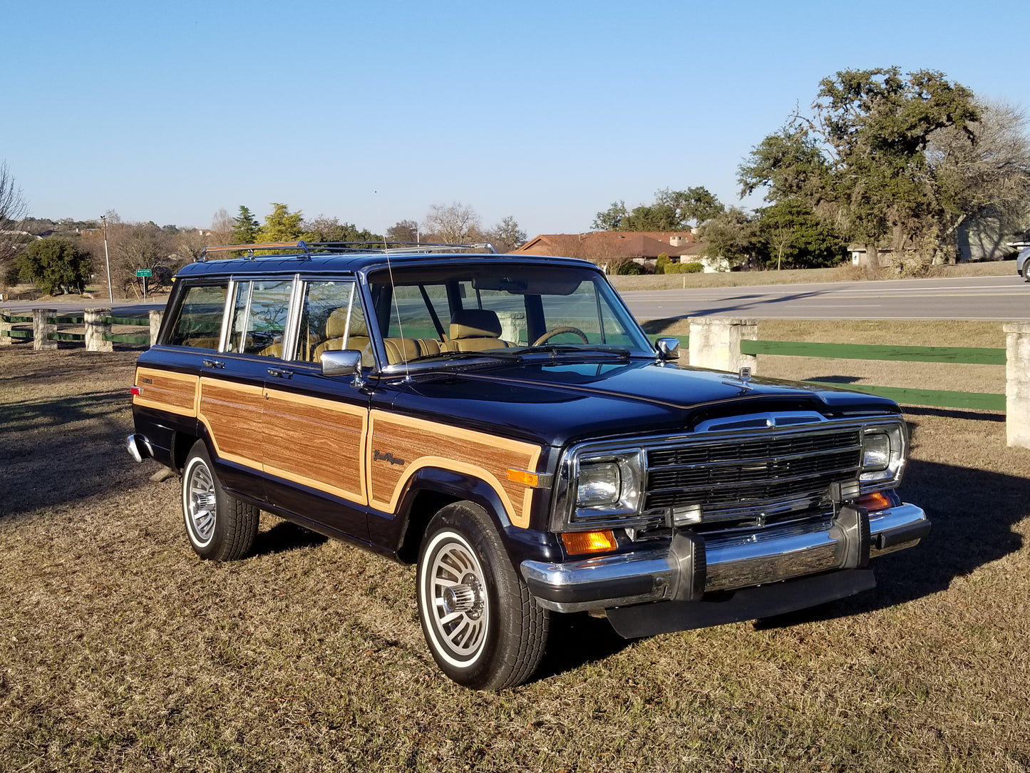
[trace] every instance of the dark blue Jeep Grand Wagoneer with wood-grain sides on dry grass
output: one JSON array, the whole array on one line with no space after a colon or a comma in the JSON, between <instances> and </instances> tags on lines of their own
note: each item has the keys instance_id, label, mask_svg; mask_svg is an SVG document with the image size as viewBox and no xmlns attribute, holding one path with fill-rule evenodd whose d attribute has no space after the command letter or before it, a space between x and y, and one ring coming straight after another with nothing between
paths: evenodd
<instances>
[{"instance_id":1,"label":"dark blue Jeep Grand Wagoneer with wood-grain sides on dry grass","mask_svg":"<svg viewBox=\"0 0 1030 773\"><path fill-rule=\"evenodd\" d=\"M244 556L266 510L416 563L428 647L477 688L529 678L553 613L627 637L768 616L871 587L870 557L927 533L894 403L677 344L584 261L209 249L139 359L129 449L181 473L201 557Z\"/></svg>"}]
</instances>

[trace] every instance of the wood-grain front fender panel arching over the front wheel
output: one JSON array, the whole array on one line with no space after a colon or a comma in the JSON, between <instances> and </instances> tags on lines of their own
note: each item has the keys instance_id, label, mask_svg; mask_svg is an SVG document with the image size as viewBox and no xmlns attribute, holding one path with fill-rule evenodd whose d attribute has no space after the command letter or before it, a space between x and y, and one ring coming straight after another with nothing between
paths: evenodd
<instances>
[{"instance_id":1,"label":"wood-grain front fender panel arching over the front wheel","mask_svg":"<svg viewBox=\"0 0 1030 773\"><path fill-rule=\"evenodd\" d=\"M373 507L396 512L408 479L423 467L455 470L488 483L514 526L529 526L533 490L508 479L508 469L536 470L540 446L450 425L372 411L367 448L369 499ZM375 459L392 455L404 464Z\"/></svg>"}]
</instances>

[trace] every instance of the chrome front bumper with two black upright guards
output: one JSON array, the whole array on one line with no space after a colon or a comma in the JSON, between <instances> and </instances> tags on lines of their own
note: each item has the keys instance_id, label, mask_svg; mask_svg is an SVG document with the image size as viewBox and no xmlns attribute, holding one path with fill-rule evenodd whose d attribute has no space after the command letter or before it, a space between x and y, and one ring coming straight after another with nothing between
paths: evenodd
<instances>
[{"instance_id":1,"label":"chrome front bumper with two black upright guards","mask_svg":"<svg viewBox=\"0 0 1030 773\"><path fill-rule=\"evenodd\" d=\"M844 508L832 519L702 540L677 535L652 549L563 563L523 561L522 576L541 606L559 612L610 609L650 601L697 601L835 569L911 547L930 531L919 507Z\"/></svg>"}]
</instances>

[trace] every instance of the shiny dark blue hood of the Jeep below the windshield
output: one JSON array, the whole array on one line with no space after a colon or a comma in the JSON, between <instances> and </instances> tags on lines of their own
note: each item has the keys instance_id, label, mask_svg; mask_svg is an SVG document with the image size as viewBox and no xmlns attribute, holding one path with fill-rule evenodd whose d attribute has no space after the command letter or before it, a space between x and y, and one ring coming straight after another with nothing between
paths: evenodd
<instances>
[{"instance_id":1,"label":"shiny dark blue hood of the Jeep below the windshield","mask_svg":"<svg viewBox=\"0 0 1030 773\"><path fill-rule=\"evenodd\" d=\"M886 398L653 361L519 363L437 371L397 383L394 409L544 445L689 432L699 422L777 410L828 417L897 413Z\"/></svg>"}]
</instances>

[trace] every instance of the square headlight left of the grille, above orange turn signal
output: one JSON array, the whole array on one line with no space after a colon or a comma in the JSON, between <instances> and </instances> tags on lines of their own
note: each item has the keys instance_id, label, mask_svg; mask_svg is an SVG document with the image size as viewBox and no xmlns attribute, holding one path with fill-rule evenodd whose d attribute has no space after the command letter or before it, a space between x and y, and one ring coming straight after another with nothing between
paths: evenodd
<instances>
[{"instance_id":1,"label":"square headlight left of the grille, above orange turn signal","mask_svg":"<svg viewBox=\"0 0 1030 773\"><path fill-rule=\"evenodd\" d=\"M632 515L644 488L640 449L579 459L576 474L576 518Z\"/></svg>"}]
</instances>

